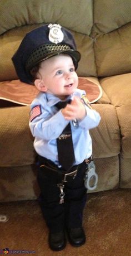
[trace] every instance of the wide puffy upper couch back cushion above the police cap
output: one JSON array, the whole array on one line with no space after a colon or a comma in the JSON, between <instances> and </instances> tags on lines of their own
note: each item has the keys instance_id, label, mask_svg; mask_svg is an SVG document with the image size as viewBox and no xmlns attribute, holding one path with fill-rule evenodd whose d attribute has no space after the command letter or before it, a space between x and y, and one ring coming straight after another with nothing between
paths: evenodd
<instances>
[{"instance_id":1,"label":"wide puffy upper couch back cushion above the police cap","mask_svg":"<svg viewBox=\"0 0 131 256\"><path fill-rule=\"evenodd\" d=\"M92 0L1 0L0 35L14 27L50 22L90 35L92 8Z\"/></svg>"}]
</instances>

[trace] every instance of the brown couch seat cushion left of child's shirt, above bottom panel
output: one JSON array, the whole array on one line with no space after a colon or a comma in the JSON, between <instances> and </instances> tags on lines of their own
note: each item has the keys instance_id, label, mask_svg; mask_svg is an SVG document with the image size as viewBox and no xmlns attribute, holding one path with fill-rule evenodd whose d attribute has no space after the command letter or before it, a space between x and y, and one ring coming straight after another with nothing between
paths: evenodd
<instances>
[{"instance_id":1,"label":"brown couch seat cushion left of child's shirt, above bottom panel","mask_svg":"<svg viewBox=\"0 0 131 256\"><path fill-rule=\"evenodd\" d=\"M1 166L30 165L35 161L33 137L29 130L30 108L1 108Z\"/></svg>"}]
</instances>

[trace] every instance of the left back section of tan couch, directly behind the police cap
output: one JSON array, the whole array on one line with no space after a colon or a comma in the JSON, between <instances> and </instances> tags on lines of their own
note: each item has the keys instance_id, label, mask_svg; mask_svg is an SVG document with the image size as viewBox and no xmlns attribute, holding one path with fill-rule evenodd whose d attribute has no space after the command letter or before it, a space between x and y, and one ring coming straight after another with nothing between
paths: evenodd
<instances>
[{"instance_id":1,"label":"left back section of tan couch, directly behind the police cap","mask_svg":"<svg viewBox=\"0 0 131 256\"><path fill-rule=\"evenodd\" d=\"M82 55L79 76L96 76L93 39L92 0L1 0L0 2L0 81L17 79L12 56L22 38L45 23L59 23L70 30Z\"/></svg>"}]
</instances>

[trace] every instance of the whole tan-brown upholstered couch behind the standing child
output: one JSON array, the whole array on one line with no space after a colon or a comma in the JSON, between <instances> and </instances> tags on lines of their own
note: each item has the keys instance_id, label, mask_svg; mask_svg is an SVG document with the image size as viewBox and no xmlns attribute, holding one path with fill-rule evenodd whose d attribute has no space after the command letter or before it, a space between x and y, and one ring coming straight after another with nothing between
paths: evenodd
<instances>
[{"instance_id":1,"label":"whole tan-brown upholstered couch behind the standing child","mask_svg":"<svg viewBox=\"0 0 131 256\"><path fill-rule=\"evenodd\" d=\"M102 120L90 131L99 176L95 191L131 187L130 13L130 0L0 2L1 83L18 79L11 57L26 32L49 22L73 33L82 54L78 75L99 80L103 95L93 107ZM3 106L1 103L0 200L36 199L39 191L29 106Z\"/></svg>"}]
</instances>

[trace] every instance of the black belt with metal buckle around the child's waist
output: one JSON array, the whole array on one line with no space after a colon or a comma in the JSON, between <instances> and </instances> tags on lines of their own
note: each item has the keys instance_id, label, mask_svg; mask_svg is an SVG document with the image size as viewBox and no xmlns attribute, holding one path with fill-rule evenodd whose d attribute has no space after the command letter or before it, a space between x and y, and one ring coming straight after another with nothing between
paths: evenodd
<instances>
[{"instance_id":1,"label":"black belt with metal buckle around the child's waist","mask_svg":"<svg viewBox=\"0 0 131 256\"><path fill-rule=\"evenodd\" d=\"M72 166L69 172L67 172L67 171L64 171L62 167L59 168L51 160L48 160L45 157L38 156L38 160L39 160L40 168L47 167L49 170L56 172L56 174L58 175L58 180L61 183L74 179L75 176L77 175L78 167L81 165L79 164L79 165ZM92 157L89 157L85 160L85 163L89 163L91 160L92 160Z\"/></svg>"}]
</instances>

